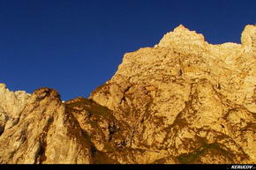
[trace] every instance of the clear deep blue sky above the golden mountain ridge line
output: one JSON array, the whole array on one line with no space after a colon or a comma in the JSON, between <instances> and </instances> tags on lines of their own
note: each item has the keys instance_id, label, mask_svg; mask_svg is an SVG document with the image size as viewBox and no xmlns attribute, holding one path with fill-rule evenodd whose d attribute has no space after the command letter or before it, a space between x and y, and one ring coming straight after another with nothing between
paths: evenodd
<instances>
[{"instance_id":1,"label":"clear deep blue sky above the golden mountain ridge line","mask_svg":"<svg viewBox=\"0 0 256 170\"><path fill-rule=\"evenodd\" d=\"M124 53L152 47L179 24L210 43L240 43L255 0L0 0L0 82L87 97Z\"/></svg>"}]
</instances>

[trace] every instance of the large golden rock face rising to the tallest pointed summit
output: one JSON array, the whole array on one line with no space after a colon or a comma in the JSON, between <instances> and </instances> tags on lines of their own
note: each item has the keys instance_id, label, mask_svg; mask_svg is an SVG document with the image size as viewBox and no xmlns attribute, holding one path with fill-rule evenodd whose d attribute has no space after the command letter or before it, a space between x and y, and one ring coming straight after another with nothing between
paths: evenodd
<instances>
[{"instance_id":1,"label":"large golden rock face rising to the tallest pointed summit","mask_svg":"<svg viewBox=\"0 0 256 170\"><path fill-rule=\"evenodd\" d=\"M91 99L129 124L127 147L154 151L141 162L255 163L255 43L256 26L220 45L178 26L125 54Z\"/></svg>"}]
</instances>

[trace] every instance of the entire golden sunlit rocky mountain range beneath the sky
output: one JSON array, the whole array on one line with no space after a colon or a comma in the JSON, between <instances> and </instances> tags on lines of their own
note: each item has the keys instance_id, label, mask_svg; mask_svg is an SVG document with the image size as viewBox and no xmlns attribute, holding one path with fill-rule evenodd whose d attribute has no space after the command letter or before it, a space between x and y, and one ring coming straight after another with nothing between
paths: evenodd
<instances>
[{"instance_id":1,"label":"entire golden sunlit rocky mountain range beneath the sky","mask_svg":"<svg viewBox=\"0 0 256 170\"><path fill-rule=\"evenodd\" d=\"M255 148L256 26L218 45L177 26L89 99L0 85L1 164L255 164Z\"/></svg>"}]
</instances>

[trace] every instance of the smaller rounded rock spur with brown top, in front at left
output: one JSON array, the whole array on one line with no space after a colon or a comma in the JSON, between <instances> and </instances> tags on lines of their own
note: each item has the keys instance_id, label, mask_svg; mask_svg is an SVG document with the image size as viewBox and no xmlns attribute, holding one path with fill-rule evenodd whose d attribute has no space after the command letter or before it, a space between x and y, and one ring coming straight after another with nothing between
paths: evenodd
<instances>
[{"instance_id":1,"label":"smaller rounded rock spur with brown top, in front at left","mask_svg":"<svg viewBox=\"0 0 256 170\"><path fill-rule=\"evenodd\" d=\"M101 163L91 137L68 111L56 90L41 88L26 101L19 121L0 137L0 163Z\"/></svg>"}]
</instances>

